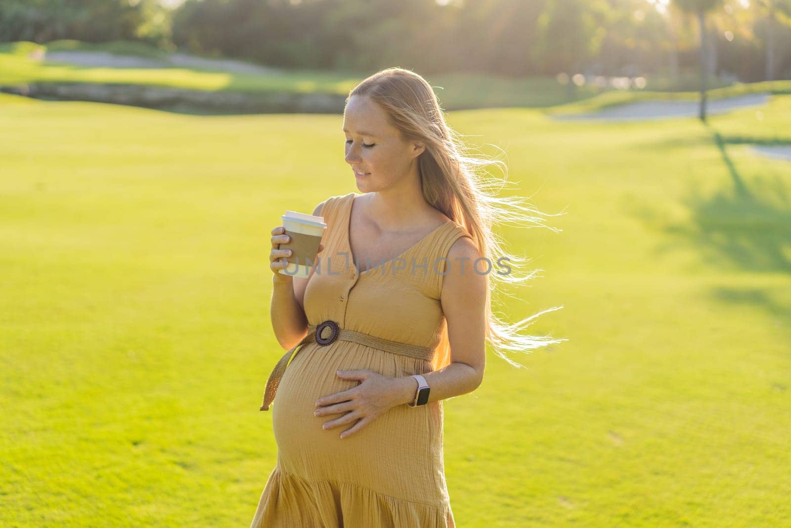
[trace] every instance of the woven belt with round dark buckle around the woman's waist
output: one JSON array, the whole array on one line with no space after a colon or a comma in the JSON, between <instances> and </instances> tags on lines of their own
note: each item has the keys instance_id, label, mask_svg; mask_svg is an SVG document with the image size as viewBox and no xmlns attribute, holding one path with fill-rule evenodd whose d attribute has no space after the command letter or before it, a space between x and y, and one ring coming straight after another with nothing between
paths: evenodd
<instances>
[{"instance_id":1,"label":"woven belt with round dark buckle around the woman's waist","mask_svg":"<svg viewBox=\"0 0 791 528\"><path fill-rule=\"evenodd\" d=\"M354 332L354 330L342 329L335 321L327 319L319 325L308 325L308 334L302 340L294 345L294 347L287 351L286 354L280 358L278 364L274 366L272 374L269 374L267 380L267 389L263 393L263 404L259 411L268 411L269 406L274 400L274 394L278 391L280 379L286 371L290 360L293 356L297 355L297 349L302 345L308 343L317 343L322 347L334 343L335 341L351 341L353 343L363 344L366 347L377 348L392 354L408 355L415 359L426 359L431 361L433 357L433 349L428 347L421 347L414 344L401 343L400 341L391 341L382 339L381 337L371 336L370 334L362 332Z\"/></svg>"}]
</instances>

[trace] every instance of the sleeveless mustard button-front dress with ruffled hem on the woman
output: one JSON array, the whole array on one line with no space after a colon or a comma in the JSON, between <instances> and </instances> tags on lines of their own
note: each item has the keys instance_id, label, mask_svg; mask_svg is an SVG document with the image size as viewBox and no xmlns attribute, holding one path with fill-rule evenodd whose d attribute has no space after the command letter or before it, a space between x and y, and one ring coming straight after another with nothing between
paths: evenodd
<instances>
[{"instance_id":1,"label":"sleeveless mustard button-front dress with ruffled hem on the woman","mask_svg":"<svg viewBox=\"0 0 791 528\"><path fill-rule=\"evenodd\" d=\"M305 289L308 323L331 319L342 329L437 347L447 336L439 300L447 261L441 257L469 235L456 222L445 222L400 256L358 272L349 242L355 196L332 196L322 208L327 230ZM431 372L433 362L342 340L298 349L270 408L277 465L251 528L454 528L442 401L397 405L345 439L340 433L354 423L321 428L343 413L313 416L320 397L359 385L338 378L336 370L358 369L400 377Z\"/></svg>"}]
</instances>

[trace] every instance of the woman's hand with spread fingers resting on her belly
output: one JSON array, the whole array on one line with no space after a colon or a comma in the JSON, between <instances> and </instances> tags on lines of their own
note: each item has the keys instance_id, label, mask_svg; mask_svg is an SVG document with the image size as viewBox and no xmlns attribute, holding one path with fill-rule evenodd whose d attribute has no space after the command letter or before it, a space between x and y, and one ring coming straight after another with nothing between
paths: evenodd
<instances>
[{"instance_id":1,"label":"woman's hand with spread fingers resting on her belly","mask_svg":"<svg viewBox=\"0 0 791 528\"><path fill-rule=\"evenodd\" d=\"M324 429L331 429L339 425L353 424L353 427L341 433L341 438L354 435L377 417L398 405L395 401L398 389L395 378L383 376L373 370L339 370L338 377L342 379L356 379L361 383L344 390L341 393L321 397L316 401L315 416L338 414L343 416L324 423Z\"/></svg>"}]
</instances>

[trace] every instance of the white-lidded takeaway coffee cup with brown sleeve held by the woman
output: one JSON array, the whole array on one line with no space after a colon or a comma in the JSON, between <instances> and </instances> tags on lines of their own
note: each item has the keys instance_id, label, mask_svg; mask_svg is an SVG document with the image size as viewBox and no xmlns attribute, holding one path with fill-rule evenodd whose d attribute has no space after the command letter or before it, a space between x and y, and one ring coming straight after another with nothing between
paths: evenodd
<instances>
[{"instance_id":1,"label":"white-lidded takeaway coffee cup with brown sleeve held by the woman","mask_svg":"<svg viewBox=\"0 0 791 528\"><path fill-rule=\"evenodd\" d=\"M324 229L327 228L324 217L286 211L280 218L290 241L279 244L278 249L290 249L291 254L285 257L288 262L286 268L278 269L278 273L307 279L319 253Z\"/></svg>"}]
</instances>

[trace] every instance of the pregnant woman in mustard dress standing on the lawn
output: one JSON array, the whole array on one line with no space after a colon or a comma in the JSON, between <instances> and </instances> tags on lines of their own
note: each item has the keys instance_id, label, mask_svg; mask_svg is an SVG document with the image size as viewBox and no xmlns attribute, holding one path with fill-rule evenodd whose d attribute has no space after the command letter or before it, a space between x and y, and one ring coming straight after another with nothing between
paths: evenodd
<instances>
[{"instance_id":1,"label":"pregnant woman in mustard dress standing on the lawn","mask_svg":"<svg viewBox=\"0 0 791 528\"><path fill-rule=\"evenodd\" d=\"M343 131L361 194L316 206L327 230L308 279L278 273L290 239L272 230L271 319L290 350L261 406L278 458L251 526L452 527L442 400L481 384L486 339L518 351L557 341L492 315L490 276L509 274L494 271L491 226L520 216L484 194L481 160L461 154L422 77L365 79Z\"/></svg>"}]
</instances>

